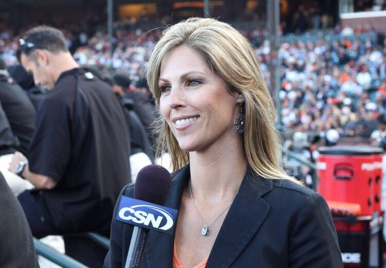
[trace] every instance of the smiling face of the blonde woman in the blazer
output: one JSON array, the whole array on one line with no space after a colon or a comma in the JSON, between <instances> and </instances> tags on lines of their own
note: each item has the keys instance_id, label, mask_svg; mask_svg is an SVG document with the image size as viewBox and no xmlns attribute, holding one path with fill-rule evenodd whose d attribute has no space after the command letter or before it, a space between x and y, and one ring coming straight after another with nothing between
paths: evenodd
<instances>
[{"instance_id":1,"label":"smiling face of the blonde woman in the blazer","mask_svg":"<svg viewBox=\"0 0 386 268\"><path fill-rule=\"evenodd\" d=\"M181 149L221 148L240 139L233 121L241 97L227 90L196 50L182 45L166 53L159 89L161 113Z\"/></svg>"}]
</instances>

